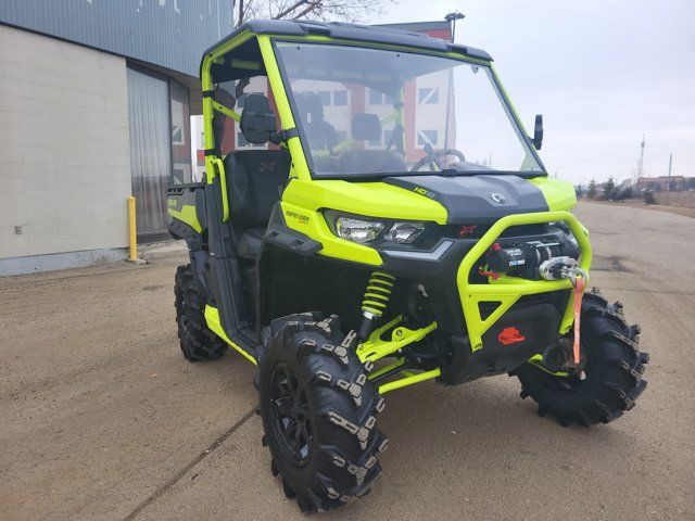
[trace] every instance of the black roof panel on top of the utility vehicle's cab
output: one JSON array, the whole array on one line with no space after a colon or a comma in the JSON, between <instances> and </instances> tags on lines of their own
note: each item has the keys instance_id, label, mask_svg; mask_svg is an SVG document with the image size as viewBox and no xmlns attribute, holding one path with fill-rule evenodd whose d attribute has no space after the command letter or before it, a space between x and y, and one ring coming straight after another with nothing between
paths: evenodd
<instances>
[{"instance_id":1,"label":"black roof panel on top of the utility vehicle's cab","mask_svg":"<svg viewBox=\"0 0 695 521\"><path fill-rule=\"evenodd\" d=\"M391 43L440 52L458 52L471 58L492 61L492 56L481 49L451 43L440 38L431 38L422 33L394 29L375 25L348 24L344 22L314 22L290 20L252 20L238 27L226 38L205 51L216 49L220 43L230 40L243 30L256 35L307 36L323 35L331 38Z\"/></svg>"}]
</instances>

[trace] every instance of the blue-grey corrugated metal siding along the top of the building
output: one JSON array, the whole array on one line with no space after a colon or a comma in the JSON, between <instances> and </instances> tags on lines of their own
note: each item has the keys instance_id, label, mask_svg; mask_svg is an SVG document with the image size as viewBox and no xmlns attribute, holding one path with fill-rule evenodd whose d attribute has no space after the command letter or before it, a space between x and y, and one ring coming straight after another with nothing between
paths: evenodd
<instances>
[{"instance_id":1,"label":"blue-grey corrugated metal siding along the top of the building","mask_svg":"<svg viewBox=\"0 0 695 521\"><path fill-rule=\"evenodd\" d=\"M0 23L198 76L232 0L0 0Z\"/></svg>"}]
</instances>

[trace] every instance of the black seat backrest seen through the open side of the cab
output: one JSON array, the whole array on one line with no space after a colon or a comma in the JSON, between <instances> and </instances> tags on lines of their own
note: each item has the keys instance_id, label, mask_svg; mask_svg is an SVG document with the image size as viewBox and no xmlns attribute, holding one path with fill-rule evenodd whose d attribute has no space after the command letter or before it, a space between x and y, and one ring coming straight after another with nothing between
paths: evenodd
<instances>
[{"instance_id":1,"label":"black seat backrest seen through the open side of the cab","mask_svg":"<svg viewBox=\"0 0 695 521\"><path fill-rule=\"evenodd\" d=\"M286 150L244 150L225 157L227 196L232 225L265 228L290 173Z\"/></svg>"}]
</instances>

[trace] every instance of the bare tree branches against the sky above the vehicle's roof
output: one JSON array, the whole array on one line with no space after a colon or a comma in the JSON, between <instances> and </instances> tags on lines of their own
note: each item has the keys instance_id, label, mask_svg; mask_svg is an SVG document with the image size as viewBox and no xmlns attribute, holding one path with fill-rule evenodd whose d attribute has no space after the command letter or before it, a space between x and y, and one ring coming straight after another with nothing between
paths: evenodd
<instances>
[{"instance_id":1,"label":"bare tree branches against the sky above the vehicle's roof","mask_svg":"<svg viewBox=\"0 0 695 521\"><path fill-rule=\"evenodd\" d=\"M239 27L253 18L357 22L381 14L386 3L397 3L397 0L236 0L236 3Z\"/></svg>"}]
</instances>

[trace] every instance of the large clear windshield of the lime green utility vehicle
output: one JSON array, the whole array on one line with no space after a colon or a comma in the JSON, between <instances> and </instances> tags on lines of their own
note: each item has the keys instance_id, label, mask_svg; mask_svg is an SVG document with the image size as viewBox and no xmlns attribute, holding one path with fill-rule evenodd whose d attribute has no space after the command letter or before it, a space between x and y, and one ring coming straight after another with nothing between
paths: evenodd
<instances>
[{"instance_id":1,"label":"large clear windshield of the lime green utility vehicle","mask_svg":"<svg viewBox=\"0 0 695 521\"><path fill-rule=\"evenodd\" d=\"M316 177L543 171L489 66L336 45L277 49Z\"/></svg>"}]
</instances>

